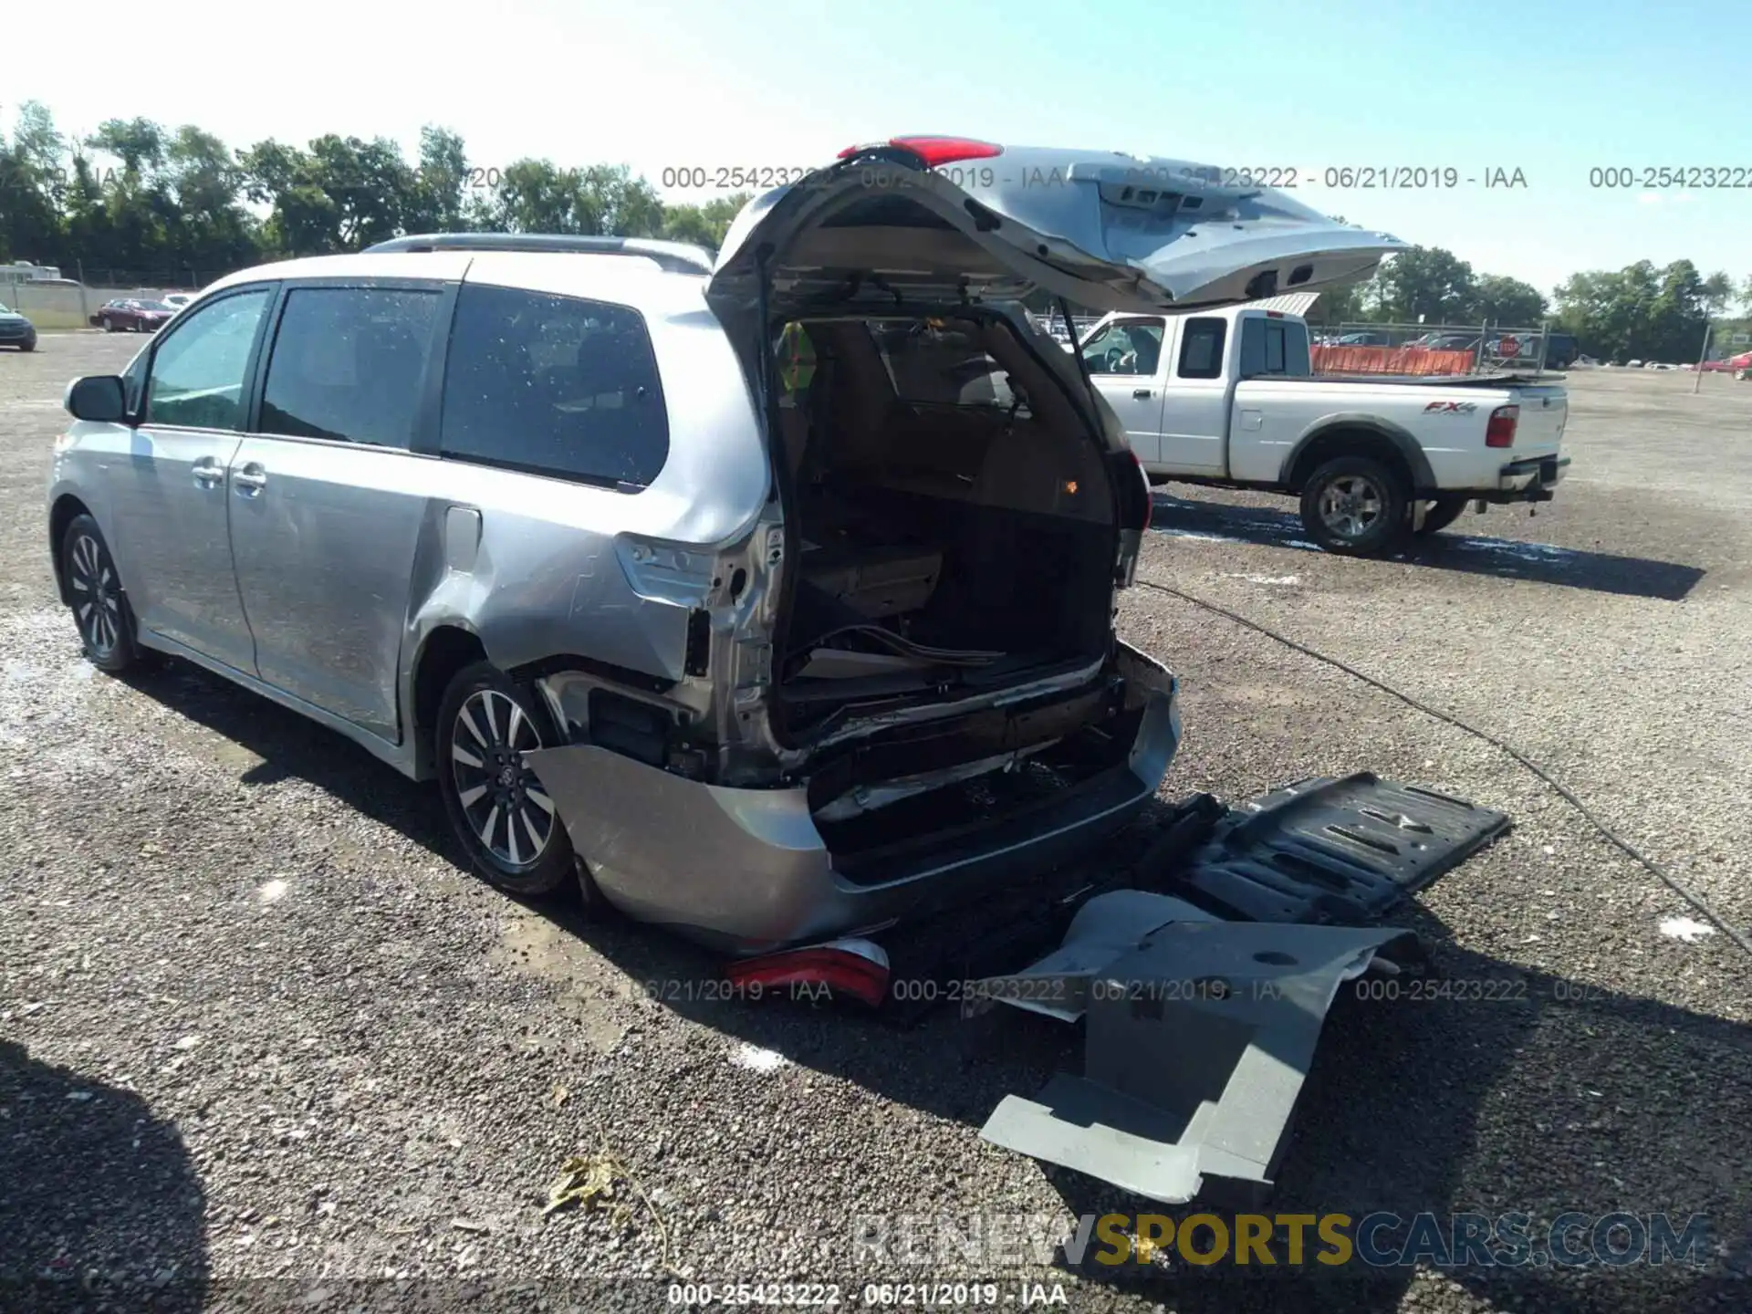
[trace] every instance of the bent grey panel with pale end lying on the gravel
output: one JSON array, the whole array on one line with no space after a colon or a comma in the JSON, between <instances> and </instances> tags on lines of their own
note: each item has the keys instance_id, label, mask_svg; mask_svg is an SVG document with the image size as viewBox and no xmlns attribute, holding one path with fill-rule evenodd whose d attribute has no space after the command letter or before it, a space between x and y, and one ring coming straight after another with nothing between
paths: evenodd
<instances>
[{"instance_id":1,"label":"bent grey panel with pale end lying on the gravel","mask_svg":"<svg viewBox=\"0 0 1752 1314\"><path fill-rule=\"evenodd\" d=\"M1107 939L1109 899L1132 918L1128 944ZM1191 1200L1207 1177L1270 1188L1328 1006L1407 932L1184 913L1165 895L1100 895L1044 971L986 983L997 999L1051 995L1065 1000L1058 1016L1088 1016L1084 1074L1006 1097L986 1141L1163 1204Z\"/></svg>"}]
</instances>

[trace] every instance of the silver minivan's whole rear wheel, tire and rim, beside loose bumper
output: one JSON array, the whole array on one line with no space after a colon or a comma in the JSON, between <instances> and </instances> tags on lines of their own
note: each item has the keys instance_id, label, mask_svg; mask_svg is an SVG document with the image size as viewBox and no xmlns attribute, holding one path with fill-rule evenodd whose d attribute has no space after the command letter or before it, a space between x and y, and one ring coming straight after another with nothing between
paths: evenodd
<instances>
[{"instance_id":1,"label":"silver minivan's whole rear wheel, tire and rim, beside loose bumper","mask_svg":"<svg viewBox=\"0 0 1752 1314\"><path fill-rule=\"evenodd\" d=\"M524 764L526 752L559 743L540 697L477 662L450 680L433 734L438 790L475 871L526 897L576 880L566 827Z\"/></svg>"}]
</instances>

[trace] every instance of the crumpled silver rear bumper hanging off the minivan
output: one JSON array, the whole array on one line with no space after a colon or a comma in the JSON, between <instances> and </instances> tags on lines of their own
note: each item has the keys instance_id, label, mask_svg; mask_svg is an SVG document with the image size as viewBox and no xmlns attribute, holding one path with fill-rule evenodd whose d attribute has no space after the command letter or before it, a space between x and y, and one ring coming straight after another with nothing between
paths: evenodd
<instances>
[{"instance_id":1,"label":"crumpled silver rear bumper hanging off the minivan","mask_svg":"<svg viewBox=\"0 0 1752 1314\"><path fill-rule=\"evenodd\" d=\"M1118 830L1155 795L1179 745L1177 690L1172 676L1163 682L1146 696L1123 764L857 881L834 869L801 787L704 785L594 745L545 748L526 762L615 908L715 950L762 953L941 911Z\"/></svg>"}]
</instances>

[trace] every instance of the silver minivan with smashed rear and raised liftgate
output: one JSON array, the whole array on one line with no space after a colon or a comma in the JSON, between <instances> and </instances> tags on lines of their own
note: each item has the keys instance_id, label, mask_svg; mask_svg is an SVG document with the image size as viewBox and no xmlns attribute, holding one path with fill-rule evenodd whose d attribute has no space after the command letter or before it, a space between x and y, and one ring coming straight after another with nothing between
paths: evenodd
<instances>
[{"instance_id":1,"label":"silver minivan with smashed rear and raised liftgate","mask_svg":"<svg viewBox=\"0 0 1752 1314\"><path fill-rule=\"evenodd\" d=\"M895 138L662 242L231 275L68 385L86 653L198 662L436 780L473 865L729 953L1118 829L1179 738L1114 638L1149 498L1025 298L1226 305L1400 244L1223 170Z\"/></svg>"}]
</instances>

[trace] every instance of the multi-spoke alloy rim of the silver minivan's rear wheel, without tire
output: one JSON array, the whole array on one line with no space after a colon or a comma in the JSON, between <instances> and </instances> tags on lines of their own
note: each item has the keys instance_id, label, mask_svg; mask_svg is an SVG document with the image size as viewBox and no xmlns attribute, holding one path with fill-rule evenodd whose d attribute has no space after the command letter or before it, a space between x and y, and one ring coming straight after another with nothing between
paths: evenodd
<instances>
[{"instance_id":1,"label":"multi-spoke alloy rim of the silver minivan's rear wheel, without tire","mask_svg":"<svg viewBox=\"0 0 1752 1314\"><path fill-rule=\"evenodd\" d=\"M478 689L450 727L450 771L463 816L506 867L533 867L554 843L554 801L524 764L541 746L534 722L498 689Z\"/></svg>"}]
</instances>

